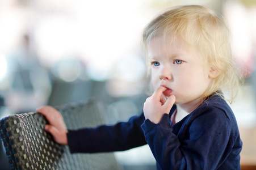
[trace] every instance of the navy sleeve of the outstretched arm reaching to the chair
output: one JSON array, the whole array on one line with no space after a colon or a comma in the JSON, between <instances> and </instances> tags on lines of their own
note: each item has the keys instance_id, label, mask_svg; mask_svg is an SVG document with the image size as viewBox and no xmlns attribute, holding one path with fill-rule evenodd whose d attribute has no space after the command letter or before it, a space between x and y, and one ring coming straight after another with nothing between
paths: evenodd
<instances>
[{"instance_id":1,"label":"navy sleeve of the outstretched arm reaching to the chair","mask_svg":"<svg viewBox=\"0 0 256 170\"><path fill-rule=\"evenodd\" d=\"M84 128L68 133L70 152L111 152L123 151L146 144L141 125L144 114L133 116L128 122L116 125L102 125L97 128Z\"/></svg>"}]
</instances>

